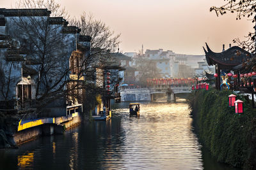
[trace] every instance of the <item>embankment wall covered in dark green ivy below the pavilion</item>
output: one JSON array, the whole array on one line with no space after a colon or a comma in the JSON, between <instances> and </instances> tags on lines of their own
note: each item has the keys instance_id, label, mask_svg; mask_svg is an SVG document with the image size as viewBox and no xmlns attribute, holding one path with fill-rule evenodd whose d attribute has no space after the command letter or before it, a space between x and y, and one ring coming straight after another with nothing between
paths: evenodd
<instances>
[{"instance_id":1,"label":"embankment wall covered in dark green ivy below the pavilion","mask_svg":"<svg viewBox=\"0 0 256 170\"><path fill-rule=\"evenodd\" d=\"M218 162L256 169L256 109L244 96L244 113L228 107L231 91L199 90L188 99L195 132Z\"/></svg>"}]
</instances>

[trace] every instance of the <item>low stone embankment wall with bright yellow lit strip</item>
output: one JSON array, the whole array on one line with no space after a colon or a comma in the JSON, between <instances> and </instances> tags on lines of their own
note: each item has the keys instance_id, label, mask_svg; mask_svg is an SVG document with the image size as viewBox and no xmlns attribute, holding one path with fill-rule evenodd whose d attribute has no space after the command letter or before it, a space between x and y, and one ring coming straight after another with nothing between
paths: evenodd
<instances>
[{"instance_id":1,"label":"low stone embankment wall with bright yellow lit strip","mask_svg":"<svg viewBox=\"0 0 256 170\"><path fill-rule=\"evenodd\" d=\"M6 122L6 118L4 121ZM63 131L81 124L81 116L75 113L68 117L38 118L25 120L24 122L24 124L20 124L21 120L18 122L15 119L14 122L12 121L12 125L2 124L3 127L0 129L0 148L12 148L39 136L62 134Z\"/></svg>"}]
</instances>

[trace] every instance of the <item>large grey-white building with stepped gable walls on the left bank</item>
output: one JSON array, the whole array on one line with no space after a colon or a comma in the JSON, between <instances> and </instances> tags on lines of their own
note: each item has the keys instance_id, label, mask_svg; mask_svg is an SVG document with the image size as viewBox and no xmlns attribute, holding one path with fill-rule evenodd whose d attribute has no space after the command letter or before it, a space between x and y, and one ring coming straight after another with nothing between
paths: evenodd
<instances>
[{"instance_id":1,"label":"large grey-white building with stepped gable walls on the left bank","mask_svg":"<svg viewBox=\"0 0 256 170\"><path fill-rule=\"evenodd\" d=\"M90 37L50 14L47 9L0 9L1 108L42 105L42 116L48 117L67 115L68 107L81 104L79 95L69 97L74 90L67 92L72 82L77 81L74 87L84 80L79 67L90 52Z\"/></svg>"}]
</instances>

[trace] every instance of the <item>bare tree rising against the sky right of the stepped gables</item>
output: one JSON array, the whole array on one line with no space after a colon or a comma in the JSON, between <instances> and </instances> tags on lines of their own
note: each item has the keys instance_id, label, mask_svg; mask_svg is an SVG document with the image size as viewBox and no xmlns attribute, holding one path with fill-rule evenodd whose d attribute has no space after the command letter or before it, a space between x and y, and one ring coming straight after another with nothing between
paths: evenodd
<instances>
[{"instance_id":1,"label":"bare tree rising against the sky right of the stepped gables","mask_svg":"<svg viewBox=\"0 0 256 170\"><path fill-rule=\"evenodd\" d=\"M90 81L86 81L85 88L88 94L86 96L104 95L106 93L107 72L111 73L111 86L118 83L118 73L116 73L116 69L113 69L118 67L118 63L113 59L111 53L116 51L120 43L120 34L115 34L104 22L95 19L91 14L87 15L85 12L80 18L70 20L70 24L79 27L81 35L92 38L90 55L83 60L83 72L86 73L87 80L96 81L97 87L93 87L94 85ZM95 75L98 75L98 77L99 75L105 76L105 79L95 79ZM111 92L108 92L108 94L111 94Z\"/></svg>"}]
</instances>

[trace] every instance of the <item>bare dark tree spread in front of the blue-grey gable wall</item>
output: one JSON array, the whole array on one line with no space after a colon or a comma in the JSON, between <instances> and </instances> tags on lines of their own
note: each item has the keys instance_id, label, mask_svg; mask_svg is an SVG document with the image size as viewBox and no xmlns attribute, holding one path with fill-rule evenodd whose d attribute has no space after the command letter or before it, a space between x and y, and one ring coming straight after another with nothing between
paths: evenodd
<instances>
[{"instance_id":1,"label":"bare dark tree spread in front of the blue-grey gable wall","mask_svg":"<svg viewBox=\"0 0 256 170\"><path fill-rule=\"evenodd\" d=\"M35 15L42 11L22 12ZM20 48L26 51L26 65L38 73L34 79L36 107L40 109L65 96L65 85L69 81L68 59L74 50L75 38L70 41L61 32L63 25L52 25L49 17L13 17L7 24L10 36L19 40Z\"/></svg>"}]
</instances>

